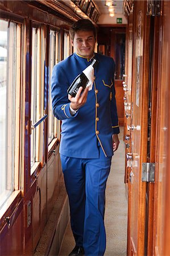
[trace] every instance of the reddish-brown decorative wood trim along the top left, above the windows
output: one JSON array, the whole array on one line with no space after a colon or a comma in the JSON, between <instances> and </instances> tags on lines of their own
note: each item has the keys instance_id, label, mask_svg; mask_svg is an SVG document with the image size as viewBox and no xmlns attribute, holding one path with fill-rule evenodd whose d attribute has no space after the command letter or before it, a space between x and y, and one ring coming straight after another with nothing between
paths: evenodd
<instances>
[{"instance_id":1,"label":"reddish-brown decorative wood trim along the top left, above the windows","mask_svg":"<svg viewBox=\"0 0 170 256\"><path fill-rule=\"evenodd\" d=\"M22 23L23 18L34 20L42 24L53 25L60 27L65 24L71 26L72 22L80 19L74 11L69 8L69 17L64 10L60 12L60 8L52 9L50 5L47 5L49 1L44 1L46 5L40 3L40 1L0 1L1 12L0 15L4 19L18 19ZM61 5L61 4L60 4ZM68 9L68 6L67 6Z\"/></svg>"}]
</instances>

